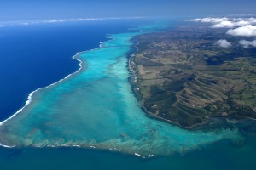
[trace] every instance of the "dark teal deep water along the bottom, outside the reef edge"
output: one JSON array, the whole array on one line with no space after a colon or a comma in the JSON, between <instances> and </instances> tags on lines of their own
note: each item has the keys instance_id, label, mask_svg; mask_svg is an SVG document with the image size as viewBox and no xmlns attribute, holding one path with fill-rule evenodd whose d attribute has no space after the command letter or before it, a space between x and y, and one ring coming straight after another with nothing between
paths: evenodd
<instances>
[{"instance_id":1,"label":"dark teal deep water along the bottom, outside the reef edge","mask_svg":"<svg viewBox=\"0 0 256 170\"><path fill-rule=\"evenodd\" d=\"M184 156L172 155L141 159L102 150L74 148L0 148L1 169L254 169L256 139L243 147L229 142L209 144Z\"/></svg>"}]
</instances>

